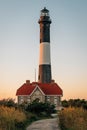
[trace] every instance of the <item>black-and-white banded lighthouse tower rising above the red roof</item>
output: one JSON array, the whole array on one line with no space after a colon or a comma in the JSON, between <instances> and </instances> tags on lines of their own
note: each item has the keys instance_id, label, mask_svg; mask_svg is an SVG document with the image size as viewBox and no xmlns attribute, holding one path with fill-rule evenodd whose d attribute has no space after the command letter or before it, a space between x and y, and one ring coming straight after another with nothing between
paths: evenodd
<instances>
[{"instance_id":1,"label":"black-and-white banded lighthouse tower rising above the red roof","mask_svg":"<svg viewBox=\"0 0 87 130\"><path fill-rule=\"evenodd\" d=\"M51 82L51 58L50 58L50 24L49 10L41 10L40 19L40 57L38 82Z\"/></svg>"}]
</instances>

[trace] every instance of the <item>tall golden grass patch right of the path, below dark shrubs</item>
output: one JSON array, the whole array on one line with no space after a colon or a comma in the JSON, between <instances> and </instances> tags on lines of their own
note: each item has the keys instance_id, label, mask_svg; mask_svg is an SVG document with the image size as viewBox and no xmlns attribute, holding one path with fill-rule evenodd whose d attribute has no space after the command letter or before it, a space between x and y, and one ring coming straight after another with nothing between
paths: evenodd
<instances>
[{"instance_id":1,"label":"tall golden grass patch right of the path, below dark shrubs","mask_svg":"<svg viewBox=\"0 0 87 130\"><path fill-rule=\"evenodd\" d=\"M59 113L61 130L87 130L87 110L66 108Z\"/></svg>"}]
</instances>

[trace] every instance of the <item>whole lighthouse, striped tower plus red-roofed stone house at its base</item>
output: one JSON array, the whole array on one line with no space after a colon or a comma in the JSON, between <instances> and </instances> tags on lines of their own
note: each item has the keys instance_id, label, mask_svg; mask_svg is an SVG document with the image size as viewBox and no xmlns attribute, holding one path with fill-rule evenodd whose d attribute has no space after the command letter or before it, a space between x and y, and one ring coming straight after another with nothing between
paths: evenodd
<instances>
[{"instance_id":1,"label":"whole lighthouse, striped tower plus red-roofed stone house at its base","mask_svg":"<svg viewBox=\"0 0 87 130\"><path fill-rule=\"evenodd\" d=\"M17 89L16 96L18 104L31 103L34 100L50 102L57 109L61 107L63 91L60 86L52 80L51 57L50 57L50 24L49 10L41 10L40 19L40 55L38 82L26 82Z\"/></svg>"}]
</instances>

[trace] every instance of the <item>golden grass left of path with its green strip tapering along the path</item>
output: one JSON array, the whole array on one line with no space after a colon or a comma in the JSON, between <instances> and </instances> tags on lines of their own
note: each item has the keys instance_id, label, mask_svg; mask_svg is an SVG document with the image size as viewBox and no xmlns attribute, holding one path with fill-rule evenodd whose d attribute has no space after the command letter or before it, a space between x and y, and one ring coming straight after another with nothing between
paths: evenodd
<instances>
[{"instance_id":1,"label":"golden grass left of path with its green strip tapering along the path","mask_svg":"<svg viewBox=\"0 0 87 130\"><path fill-rule=\"evenodd\" d=\"M25 130L32 122L46 118L14 107L0 106L0 130Z\"/></svg>"}]
</instances>

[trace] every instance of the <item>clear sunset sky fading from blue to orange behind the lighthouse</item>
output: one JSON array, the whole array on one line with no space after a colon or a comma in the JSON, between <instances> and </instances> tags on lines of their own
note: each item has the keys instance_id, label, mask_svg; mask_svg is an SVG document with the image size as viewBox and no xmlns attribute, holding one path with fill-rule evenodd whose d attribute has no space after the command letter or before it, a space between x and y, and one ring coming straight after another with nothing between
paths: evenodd
<instances>
[{"instance_id":1,"label":"clear sunset sky fading from blue to orange behind the lighthouse","mask_svg":"<svg viewBox=\"0 0 87 130\"><path fill-rule=\"evenodd\" d=\"M52 78L62 99L87 100L87 0L0 0L0 99L38 81L40 10L52 20Z\"/></svg>"}]
</instances>

